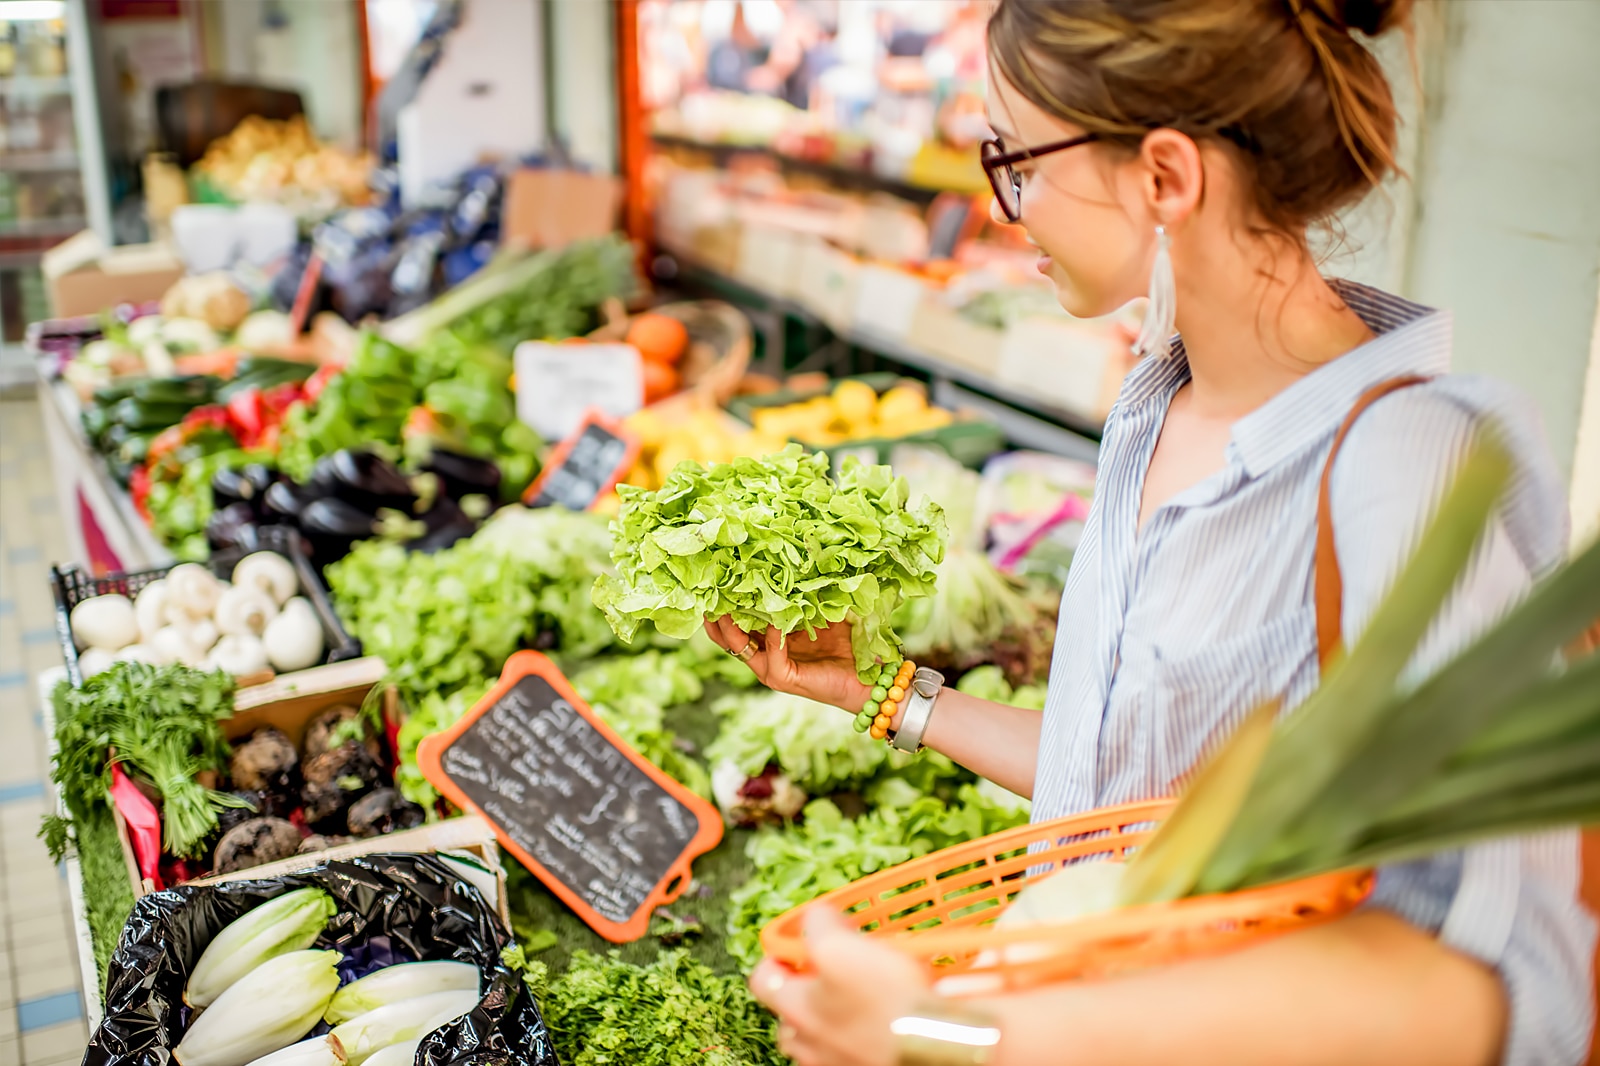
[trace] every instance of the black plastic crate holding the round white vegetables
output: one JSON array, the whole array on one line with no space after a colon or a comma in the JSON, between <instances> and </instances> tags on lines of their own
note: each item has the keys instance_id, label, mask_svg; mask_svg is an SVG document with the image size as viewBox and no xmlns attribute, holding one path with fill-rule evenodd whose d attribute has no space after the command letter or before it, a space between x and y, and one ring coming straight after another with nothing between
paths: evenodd
<instances>
[{"instance_id":1,"label":"black plastic crate holding the round white vegetables","mask_svg":"<svg viewBox=\"0 0 1600 1066\"><path fill-rule=\"evenodd\" d=\"M259 547L250 551L240 547L218 551L211 554L206 565L216 576L226 581L245 555L256 551L283 555L294 565L294 575L299 578L301 586L299 594L310 600L312 610L317 611L317 618L322 621L323 643L328 647L323 663L358 659L362 656L362 642L347 634L339 623L339 615L333 610L333 597L328 594L328 586L323 584L317 568L310 565L299 533L286 525L266 525L261 527L259 535ZM131 600L139 594L139 589L165 578L171 570L173 567L160 567L157 570L136 570L96 578L77 565L50 568L50 587L56 595L56 637L61 640L61 658L67 664L67 677L72 679L74 688L83 687L83 674L78 669L78 643L72 637L72 608L93 595L107 595L110 592L122 592Z\"/></svg>"}]
</instances>

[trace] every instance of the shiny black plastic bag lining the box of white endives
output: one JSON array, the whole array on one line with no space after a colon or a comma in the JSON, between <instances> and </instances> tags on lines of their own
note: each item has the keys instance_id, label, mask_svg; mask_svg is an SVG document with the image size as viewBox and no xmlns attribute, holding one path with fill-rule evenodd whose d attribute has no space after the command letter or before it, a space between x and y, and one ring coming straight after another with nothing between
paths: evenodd
<instances>
[{"instance_id":1,"label":"shiny black plastic bag lining the box of white endives","mask_svg":"<svg viewBox=\"0 0 1600 1066\"><path fill-rule=\"evenodd\" d=\"M107 964L106 1016L83 1066L168 1066L168 1048L178 1047L190 1015L184 984L200 952L238 916L307 887L328 890L339 904L315 946L342 951L355 972L451 959L485 975L483 999L422 1042L421 1066L558 1066L538 1004L501 962L510 938L478 890L435 858L387 853L139 900ZM355 975L347 967L341 973Z\"/></svg>"}]
</instances>

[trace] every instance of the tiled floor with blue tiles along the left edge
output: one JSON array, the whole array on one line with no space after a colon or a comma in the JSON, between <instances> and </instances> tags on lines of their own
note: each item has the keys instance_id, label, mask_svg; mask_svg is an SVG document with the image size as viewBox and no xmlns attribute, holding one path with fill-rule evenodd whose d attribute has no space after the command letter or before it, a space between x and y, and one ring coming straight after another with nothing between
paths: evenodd
<instances>
[{"instance_id":1,"label":"tiled floor with blue tiles along the left edge","mask_svg":"<svg viewBox=\"0 0 1600 1066\"><path fill-rule=\"evenodd\" d=\"M0 1066L77 1063L88 1036L67 882L35 837L46 804L37 675L61 664L50 563L61 519L34 400L0 402Z\"/></svg>"}]
</instances>

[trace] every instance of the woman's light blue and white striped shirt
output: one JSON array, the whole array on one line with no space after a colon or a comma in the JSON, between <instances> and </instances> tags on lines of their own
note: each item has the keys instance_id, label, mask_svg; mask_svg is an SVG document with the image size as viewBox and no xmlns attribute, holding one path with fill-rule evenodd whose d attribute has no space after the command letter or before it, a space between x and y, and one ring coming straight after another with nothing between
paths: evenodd
<instances>
[{"instance_id":1,"label":"woman's light blue and white striped shirt","mask_svg":"<svg viewBox=\"0 0 1600 1066\"><path fill-rule=\"evenodd\" d=\"M1293 706L1317 687L1312 549L1317 482L1334 431L1379 381L1450 368L1446 312L1338 287L1378 336L1235 423L1224 469L1163 504L1144 530L1144 474L1166 405L1189 379L1182 344L1123 383L1061 602L1035 820L1170 795L1250 709L1283 693ZM1565 555L1565 493L1538 418L1504 386L1442 376L1373 405L1334 464L1349 643L1486 419L1510 440L1515 483L1419 648L1418 675L1442 666ZM1594 1024L1595 927L1578 903L1574 832L1386 868L1370 906L1498 968L1512 1016L1506 1063L1582 1060Z\"/></svg>"}]
</instances>

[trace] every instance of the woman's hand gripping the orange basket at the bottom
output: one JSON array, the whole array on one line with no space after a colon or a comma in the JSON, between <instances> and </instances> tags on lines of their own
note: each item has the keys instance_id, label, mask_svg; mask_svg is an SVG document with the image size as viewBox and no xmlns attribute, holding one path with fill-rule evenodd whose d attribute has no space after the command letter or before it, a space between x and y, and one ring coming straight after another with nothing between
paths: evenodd
<instances>
[{"instance_id":1,"label":"woman's hand gripping the orange basket at the bottom","mask_svg":"<svg viewBox=\"0 0 1600 1066\"><path fill-rule=\"evenodd\" d=\"M926 996L922 967L821 908L805 927L814 973L766 960L750 975L750 991L778 1015L778 1048L797 1066L894 1066L890 1023Z\"/></svg>"}]
</instances>

